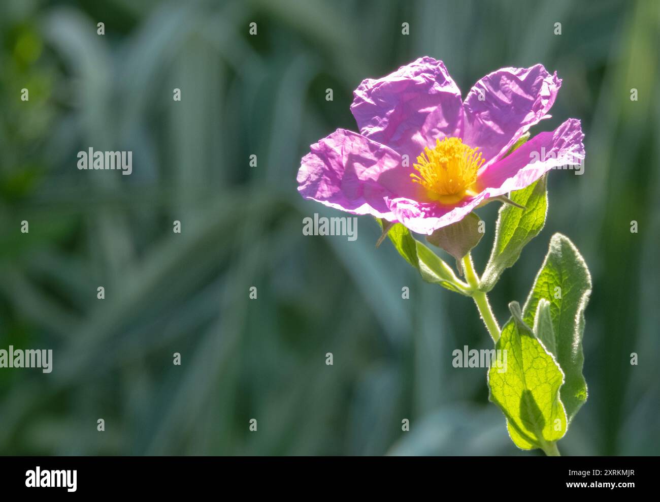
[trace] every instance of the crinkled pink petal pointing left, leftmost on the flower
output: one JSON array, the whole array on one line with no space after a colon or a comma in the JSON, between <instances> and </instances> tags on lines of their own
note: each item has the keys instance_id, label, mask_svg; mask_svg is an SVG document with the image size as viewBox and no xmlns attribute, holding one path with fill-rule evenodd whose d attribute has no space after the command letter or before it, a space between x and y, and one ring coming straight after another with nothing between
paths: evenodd
<instances>
[{"instance_id":1,"label":"crinkled pink petal pointing left, leftmost on the flower","mask_svg":"<svg viewBox=\"0 0 660 502\"><path fill-rule=\"evenodd\" d=\"M337 129L310 147L298 170L298 192L335 209L393 220L385 197L395 192L381 184L399 183L401 157L358 133ZM407 182L411 184L408 179Z\"/></svg>"}]
</instances>

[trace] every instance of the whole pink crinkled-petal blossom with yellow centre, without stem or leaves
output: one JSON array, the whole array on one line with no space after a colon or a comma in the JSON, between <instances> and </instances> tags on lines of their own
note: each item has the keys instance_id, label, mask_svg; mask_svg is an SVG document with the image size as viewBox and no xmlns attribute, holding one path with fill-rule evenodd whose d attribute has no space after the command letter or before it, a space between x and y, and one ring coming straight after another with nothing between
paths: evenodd
<instances>
[{"instance_id":1,"label":"whole pink crinkled-petal blossom with yellow centre, without stem or leaves","mask_svg":"<svg viewBox=\"0 0 660 502\"><path fill-rule=\"evenodd\" d=\"M492 197L584 159L579 120L506 153L544 118L562 84L543 65L494 71L461 100L442 61L420 57L366 79L337 129L310 147L298 192L329 207L403 223L416 233L455 223Z\"/></svg>"}]
</instances>

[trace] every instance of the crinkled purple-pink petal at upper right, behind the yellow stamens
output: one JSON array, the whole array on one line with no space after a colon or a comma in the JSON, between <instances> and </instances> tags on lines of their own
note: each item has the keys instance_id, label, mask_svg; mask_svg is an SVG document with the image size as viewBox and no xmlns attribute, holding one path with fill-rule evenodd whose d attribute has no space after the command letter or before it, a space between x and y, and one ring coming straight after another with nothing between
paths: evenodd
<instances>
[{"instance_id":1,"label":"crinkled purple-pink petal at upper right, behind the yellow stamens","mask_svg":"<svg viewBox=\"0 0 660 502\"><path fill-rule=\"evenodd\" d=\"M465 98L463 141L479 147L486 164L497 162L529 127L548 117L562 85L543 65L489 73Z\"/></svg>"}]
</instances>

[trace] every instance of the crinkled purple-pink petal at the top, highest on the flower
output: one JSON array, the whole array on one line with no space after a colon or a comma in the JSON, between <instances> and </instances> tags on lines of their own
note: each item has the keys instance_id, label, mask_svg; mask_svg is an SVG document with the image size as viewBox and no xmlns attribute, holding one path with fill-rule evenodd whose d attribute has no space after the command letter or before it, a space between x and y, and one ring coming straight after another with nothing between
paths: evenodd
<instances>
[{"instance_id":1,"label":"crinkled purple-pink petal at the top, highest on the flower","mask_svg":"<svg viewBox=\"0 0 660 502\"><path fill-rule=\"evenodd\" d=\"M360 133L413 164L437 138L460 136L461 91L442 63L420 57L381 79L365 79L350 106Z\"/></svg>"}]
</instances>

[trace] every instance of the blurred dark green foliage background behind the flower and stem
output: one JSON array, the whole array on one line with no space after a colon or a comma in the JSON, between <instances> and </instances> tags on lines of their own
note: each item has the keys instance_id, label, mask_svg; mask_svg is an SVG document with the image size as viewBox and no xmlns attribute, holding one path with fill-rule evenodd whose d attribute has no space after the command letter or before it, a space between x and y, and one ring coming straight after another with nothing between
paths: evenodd
<instances>
[{"instance_id":1,"label":"blurred dark green foliage background behind the flower and stem","mask_svg":"<svg viewBox=\"0 0 660 502\"><path fill-rule=\"evenodd\" d=\"M585 173L550 173L546 227L491 301L504 322L568 235L593 295L589 400L560 450L658 454L659 26L654 0L3 1L0 348L54 362L0 369L0 454L530 454L484 369L451 365L490 347L469 299L375 249L370 217L355 242L302 235L304 217L342 214L298 196L300 157L356 129L362 79L421 55L464 97L503 66L564 80L533 133L581 119ZM88 147L133 151L133 174L77 170Z\"/></svg>"}]
</instances>

